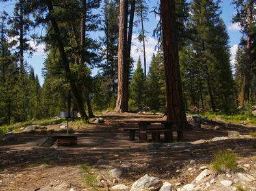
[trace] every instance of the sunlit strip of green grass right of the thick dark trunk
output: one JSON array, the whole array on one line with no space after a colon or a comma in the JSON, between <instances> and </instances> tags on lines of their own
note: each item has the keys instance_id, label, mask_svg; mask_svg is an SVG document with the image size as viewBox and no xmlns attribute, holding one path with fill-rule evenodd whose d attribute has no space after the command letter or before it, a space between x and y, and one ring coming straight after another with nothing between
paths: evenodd
<instances>
[{"instance_id":1,"label":"sunlit strip of green grass right of the thick dark trunk","mask_svg":"<svg viewBox=\"0 0 256 191\"><path fill-rule=\"evenodd\" d=\"M251 124L253 126L256 126L256 117L255 116L250 116L248 115L243 115L243 114L235 114L235 115L225 115L223 113L213 113L209 111L205 111L202 113L187 113L188 115L194 115L198 114L201 115L202 117L207 117L209 119L213 120L223 120L224 122L231 122L234 124L241 124L243 121L246 122L246 124Z\"/></svg>"}]
</instances>

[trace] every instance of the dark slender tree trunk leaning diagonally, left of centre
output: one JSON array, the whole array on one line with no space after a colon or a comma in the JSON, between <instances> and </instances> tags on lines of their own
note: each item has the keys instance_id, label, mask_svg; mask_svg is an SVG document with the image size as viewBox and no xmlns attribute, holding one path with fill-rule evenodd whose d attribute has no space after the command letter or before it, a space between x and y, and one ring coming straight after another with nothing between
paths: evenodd
<instances>
[{"instance_id":1,"label":"dark slender tree trunk leaning diagonally, left of centre","mask_svg":"<svg viewBox=\"0 0 256 191\"><path fill-rule=\"evenodd\" d=\"M64 70L66 72L66 78L68 79L68 82L70 83L71 91L73 93L75 101L77 102L77 107L79 109L79 112L81 113L81 117L84 118L85 120L88 120L86 112L84 111L83 98L77 89L77 85L75 84L75 82L73 82L71 80L70 65L68 63L68 58L67 58L66 52L64 50L64 45L62 43L62 39L60 37L60 31L59 31L59 28L57 25L57 21L51 15L51 13L53 12L53 3L51 0L47 0L46 2L47 2L47 8L49 10L49 16L50 16L49 19L51 21L51 24L53 25L53 30L55 32L55 38L57 39L57 46L58 46L58 51L60 52L60 58L64 65Z\"/></svg>"}]
</instances>

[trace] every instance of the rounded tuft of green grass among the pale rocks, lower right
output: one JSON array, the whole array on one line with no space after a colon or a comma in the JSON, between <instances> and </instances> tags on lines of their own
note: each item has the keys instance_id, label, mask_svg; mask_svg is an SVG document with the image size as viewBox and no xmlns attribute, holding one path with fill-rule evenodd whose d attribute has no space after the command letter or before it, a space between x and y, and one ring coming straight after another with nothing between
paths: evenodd
<instances>
[{"instance_id":1,"label":"rounded tuft of green grass among the pale rocks, lower right","mask_svg":"<svg viewBox=\"0 0 256 191\"><path fill-rule=\"evenodd\" d=\"M238 169L237 155L232 151L218 152L214 156L212 168L216 172L235 171Z\"/></svg>"}]
</instances>

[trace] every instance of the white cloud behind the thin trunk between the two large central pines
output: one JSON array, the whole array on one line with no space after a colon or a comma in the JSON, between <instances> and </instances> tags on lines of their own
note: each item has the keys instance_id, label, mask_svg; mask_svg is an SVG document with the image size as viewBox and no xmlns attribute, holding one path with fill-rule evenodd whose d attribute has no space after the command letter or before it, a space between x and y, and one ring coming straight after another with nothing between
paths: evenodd
<instances>
[{"instance_id":1,"label":"white cloud behind the thin trunk between the two large central pines","mask_svg":"<svg viewBox=\"0 0 256 191\"><path fill-rule=\"evenodd\" d=\"M149 65L151 63L151 58L153 54L157 53L157 50L155 49L155 46L157 45L157 40L154 38L146 38L145 41L145 51L146 51L146 67L147 67L147 72ZM138 35L133 35L133 41L132 41L132 46L131 46L131 56L134 59L134 68L136 68L136 63L138 61L138 58L140 56L140 59L142 60L142 68L144 68L144 55L143 55L143 43L138 41Z\"/></svg>"}]
</instances>

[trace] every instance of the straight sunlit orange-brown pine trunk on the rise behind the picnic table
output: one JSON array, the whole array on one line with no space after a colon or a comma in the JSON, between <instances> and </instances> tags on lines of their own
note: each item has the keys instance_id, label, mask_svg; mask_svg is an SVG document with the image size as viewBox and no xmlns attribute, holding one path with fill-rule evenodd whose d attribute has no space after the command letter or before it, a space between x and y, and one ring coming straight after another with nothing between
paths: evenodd
<instances>
[{"instance_id":1,"label":"straight sunlit orange-brown pine trunk on the rise behind the picnic table","mask_svg":"<svg viewBox=\"0 0 256 191\"><path fill-rule=\"evenodd\" d=\"M118 98L115 111L128 111L128 72L127 66L127 10L128 1L120 0L118 36Z\"/></svg>"}]
</instances>

